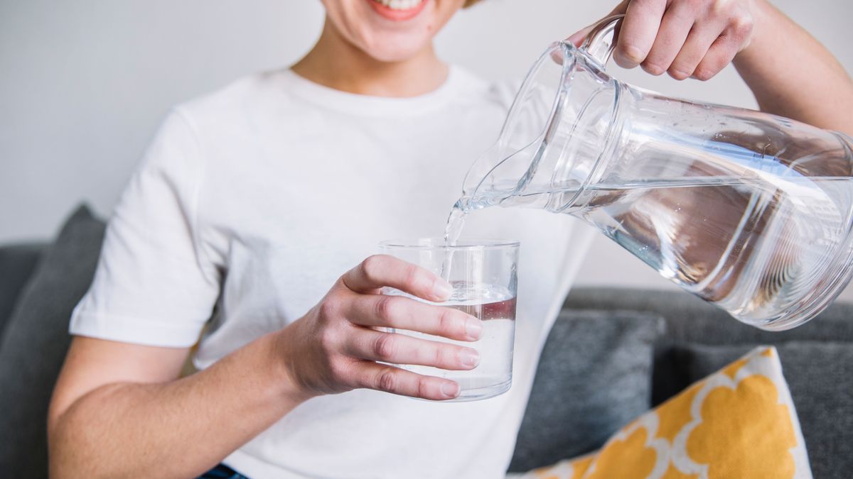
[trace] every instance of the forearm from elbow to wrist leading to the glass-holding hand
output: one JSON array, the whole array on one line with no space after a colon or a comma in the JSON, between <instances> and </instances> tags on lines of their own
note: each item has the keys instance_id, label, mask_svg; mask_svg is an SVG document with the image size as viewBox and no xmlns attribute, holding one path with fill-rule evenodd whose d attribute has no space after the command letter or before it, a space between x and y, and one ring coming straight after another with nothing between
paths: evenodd
<instances>
[{"instance_id":1,"label":"forearm from elbow to wrist leading to the glass-holding hand","mask_svg":"<svg viewBox=\"0 0 853 479\"><path fill-rule=\"evenodd\" d=\"M266 336L165 384L107 384L51 428L51 476L199 476L298 406Z\"/></svg>"}]
</instances>

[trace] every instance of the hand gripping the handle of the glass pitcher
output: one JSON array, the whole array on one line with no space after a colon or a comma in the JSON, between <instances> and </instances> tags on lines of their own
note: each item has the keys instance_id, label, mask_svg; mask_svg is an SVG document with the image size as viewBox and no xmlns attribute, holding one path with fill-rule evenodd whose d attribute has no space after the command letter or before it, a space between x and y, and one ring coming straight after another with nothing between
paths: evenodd
<instances>
[{"instance_id":1,"label":"hand gripping the handle of the glass pitcher","mask_svg":"<svg viewBox=\"0 0 853 479\"><path fill-rule=\"evenodd\" d=\"M613 59L618 66L676 80L708 80L749 45L756 2L763 0L624 0ZM569 40L579 44L589 27Z\"/></svg>"}]
</instances>

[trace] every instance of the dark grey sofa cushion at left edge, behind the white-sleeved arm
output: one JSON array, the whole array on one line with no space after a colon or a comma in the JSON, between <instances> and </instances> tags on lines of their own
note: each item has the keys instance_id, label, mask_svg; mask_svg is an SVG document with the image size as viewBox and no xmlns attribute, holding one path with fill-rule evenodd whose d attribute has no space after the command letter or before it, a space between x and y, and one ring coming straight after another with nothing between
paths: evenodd
<instances>
[{"instance_id":1,"label":"dark grey sofa cushion at left edge, behind the white-sleeved arm","mask_svg":"<svg viewBox=\"0 0 853 479\"><path fill-rule=\"evenodd\" d=\"M89 288L104 223L81 206L24 286L0 340L0 470L47 477L47 413L70 337L68 320Z\"/></svg>"}]
</instances>

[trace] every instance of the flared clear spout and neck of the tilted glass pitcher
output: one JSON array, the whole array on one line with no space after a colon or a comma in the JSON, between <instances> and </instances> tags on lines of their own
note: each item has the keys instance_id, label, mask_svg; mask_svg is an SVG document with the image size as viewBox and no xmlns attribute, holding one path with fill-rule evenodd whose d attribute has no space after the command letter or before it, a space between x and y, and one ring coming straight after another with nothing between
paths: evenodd
<instances>
[{"instance_id":1,"label":"flared clear spout and neck of the tilted glass pitcher","mask_svg":"<svg viewBox=\"0 0 853 479\"><path fill-rule=\"evenodd\" d=\"M519 90L498 141L468 170L468 209L565 210L594 181L613 137L618 95L594 58L552 44Z\"/></svg>"}]
</instances>

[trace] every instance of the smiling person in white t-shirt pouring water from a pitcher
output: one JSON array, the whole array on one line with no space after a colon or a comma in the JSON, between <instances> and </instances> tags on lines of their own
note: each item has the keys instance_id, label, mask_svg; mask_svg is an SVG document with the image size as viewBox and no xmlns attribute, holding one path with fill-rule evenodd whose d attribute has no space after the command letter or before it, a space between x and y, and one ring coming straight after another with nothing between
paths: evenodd
<instances>
[{"instance_id":1,"label":"smiling person in white t-shirt pouring water from a pitcher","mask_svg":"<svg viewBox=\"0 0 853 479\"><path fill-rule=\"evenodd\" d=\"M371 253L380 240L441 231L514 85L433 49L474 1L322 3L325 26L305 58L165 118L73 314L49 411L52 476L189 477L219 463L250 477L504 475L589 232L547 213L471 216L467 234L522 243L508 393L443 403L456 383L389 366L479 361L472 347L380 331L475 346L482 325L379 294L439 301L449 285ZM626 14L620 66L706 80L734 61L763 111L853 133L850 77L766 0L624 0L612 13ZM200 371L181 378L200 334Z\"/></svg>"}]
</instances>

